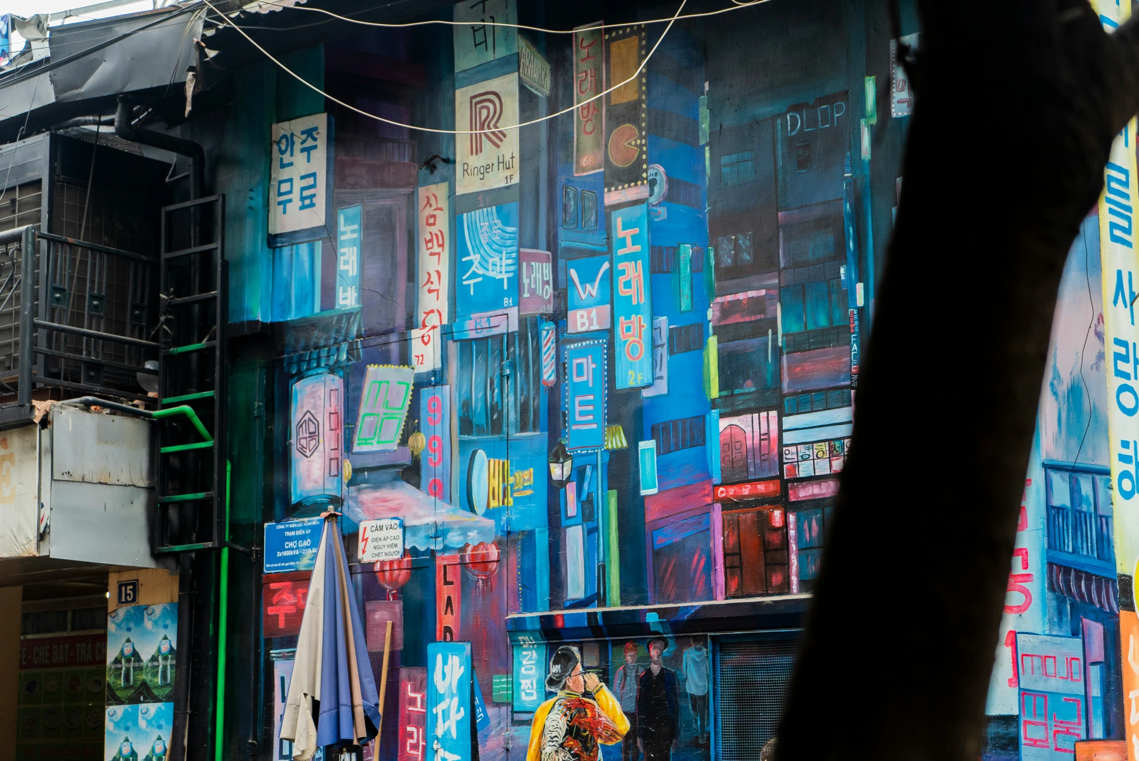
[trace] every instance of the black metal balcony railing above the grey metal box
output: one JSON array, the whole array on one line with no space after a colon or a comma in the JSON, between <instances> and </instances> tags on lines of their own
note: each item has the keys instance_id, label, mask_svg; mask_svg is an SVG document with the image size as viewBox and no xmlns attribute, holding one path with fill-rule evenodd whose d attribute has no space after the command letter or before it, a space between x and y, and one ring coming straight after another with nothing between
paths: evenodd
<instances>
[{"instance_id":1,"label":"black metal balcony railing above the grey metal box","mask_svg":"<svg viewBox=\"0 0 1139 761\"><path fill-rule=\"evenodd\" d=\"M46 387L154 402L140 377L157 375L157 279L156 256L0 232L0 404L28 408Z\"/></svg>"}]
</instances>

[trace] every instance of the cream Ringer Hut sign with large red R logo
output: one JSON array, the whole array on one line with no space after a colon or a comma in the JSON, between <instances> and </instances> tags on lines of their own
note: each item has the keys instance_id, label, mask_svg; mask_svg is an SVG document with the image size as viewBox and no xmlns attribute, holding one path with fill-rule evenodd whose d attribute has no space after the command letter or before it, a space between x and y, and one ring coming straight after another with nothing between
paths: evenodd
<instances>
[{"instance_id":1,"label":"cream Ringer Hut sign with large red R logo","mask_svg":"<svg viewBox=\"0 0 1139 761\"><path fill-rule=\"evenodd\" d=\"M518 181L518 74L454 91L457 195ZM509 129L502 129L509 128ZM462 132L470 131L469 134Z\"/></svg>"}]
</instances>

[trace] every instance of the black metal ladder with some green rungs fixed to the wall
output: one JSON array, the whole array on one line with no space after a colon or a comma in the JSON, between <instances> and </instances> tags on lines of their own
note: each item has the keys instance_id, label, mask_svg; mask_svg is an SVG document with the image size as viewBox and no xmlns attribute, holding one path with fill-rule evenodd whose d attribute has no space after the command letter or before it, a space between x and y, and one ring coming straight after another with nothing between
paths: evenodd
<instances>
[{"instance_id":1,"label":"black metal ladder with some green rungs fixed to the wall","mask_svg":"<svg viewBox=\"0 0 1139 761\"><path fill-rule=\"evenodd\" d=\"M223 196L162 210L156 555L226 546L227 270ZM158 417L158 416L156 416Z\"/></svg>"}]
</instances>

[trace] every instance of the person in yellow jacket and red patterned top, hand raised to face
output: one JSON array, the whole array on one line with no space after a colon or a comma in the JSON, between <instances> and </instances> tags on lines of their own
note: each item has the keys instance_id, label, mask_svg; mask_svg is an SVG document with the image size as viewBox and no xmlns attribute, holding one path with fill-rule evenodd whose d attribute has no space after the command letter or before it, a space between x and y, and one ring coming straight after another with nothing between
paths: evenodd
<instances>
[{"instance_id":1,"label":"person in yellow jacket and red patterned top, hand raised to face","mask_svg":"<svg viewBox=\"0 0 1139 761\"><path fill-rule=\"evenodd\" d=\"M526 761L597 761L599 743L620 743L629 731L629 719L609 688L597 674L582 672L576 647L557 649L546 688L557 695L534 713Z\"/></svg>"}]
</instances>

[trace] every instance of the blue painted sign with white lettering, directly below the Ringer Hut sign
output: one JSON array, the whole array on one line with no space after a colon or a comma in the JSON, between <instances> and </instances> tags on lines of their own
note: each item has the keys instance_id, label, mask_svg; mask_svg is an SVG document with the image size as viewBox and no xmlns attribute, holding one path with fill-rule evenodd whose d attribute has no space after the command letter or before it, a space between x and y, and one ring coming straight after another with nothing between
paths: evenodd
<instances>
[{"instance_id":1,"label":"blue painted sign with white lettering, directly below the Ringer Hut sign","mask_svg":"<svg viewBox=\"0 0 1139 761\"><path fill-rule=\"evenodd\" d=\"M518 204L459 214L456 311L460 316L518 305Z\"/></svg>"}]
</instances>

